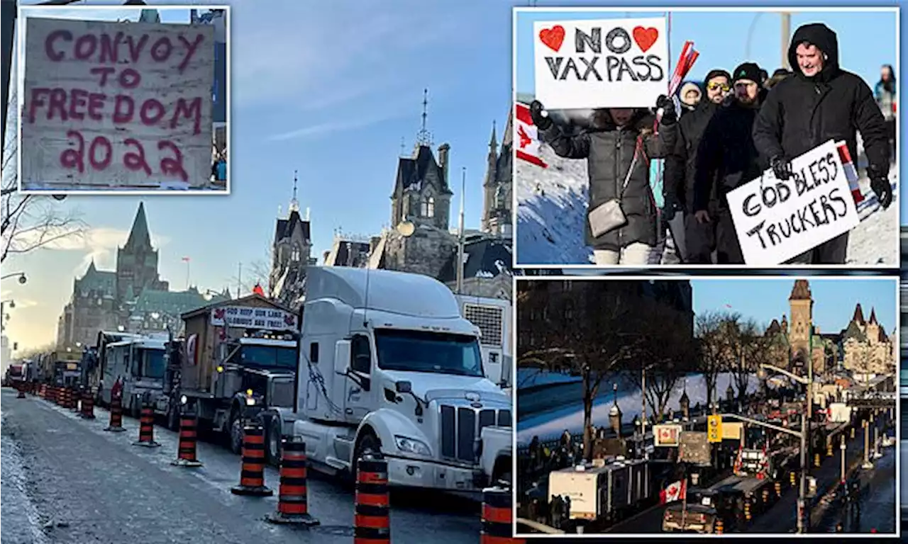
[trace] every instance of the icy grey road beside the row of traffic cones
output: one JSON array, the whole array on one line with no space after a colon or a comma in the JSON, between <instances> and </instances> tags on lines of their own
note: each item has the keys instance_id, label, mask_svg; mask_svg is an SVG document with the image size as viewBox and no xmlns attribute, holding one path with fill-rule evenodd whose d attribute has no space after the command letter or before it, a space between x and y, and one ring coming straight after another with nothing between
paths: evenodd
<instances>
[{"instance_id":1,"label":"icy grey road beside the row of traffic cones","mask_svg":"<svg viewBox=\"0 0 908 544\"><path fill-rule=\"evenodd\" d=\"M124 420L127 432L104 432L107 413L96 415L85 421L0 389L0 543L352 541L352 492L335 481L310 476L309 508L321 526L273 526L262 518L275 510L276 497L231 494L238 456L200 443L202 468L173 467L175 433L155 427L162 446L139 448L132 445L134 420ZM267 468L265 481L277 495L278 472ZM475 502L401 492L392 494L391 506L393 542L424 542L427 533L452 544L479 539Z\"/></svg>"}]
</instances>

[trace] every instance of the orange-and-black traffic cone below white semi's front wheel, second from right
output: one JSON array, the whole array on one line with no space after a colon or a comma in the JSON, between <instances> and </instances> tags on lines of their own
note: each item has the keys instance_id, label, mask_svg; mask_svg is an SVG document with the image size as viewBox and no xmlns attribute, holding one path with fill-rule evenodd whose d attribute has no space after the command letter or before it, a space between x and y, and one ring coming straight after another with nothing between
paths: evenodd
<instances>
[{"instance_id":1,"label":"orange-and-black traffic cone below white semi's front wheel, second from right","mask_svg":"<svg viewBox=\"0 0 908 544\"><path fill-rule=\"evenodd\" d=\"M388 461L367 453L356 463L353 544L390 544Z\"/></svg>"}]
</instances>

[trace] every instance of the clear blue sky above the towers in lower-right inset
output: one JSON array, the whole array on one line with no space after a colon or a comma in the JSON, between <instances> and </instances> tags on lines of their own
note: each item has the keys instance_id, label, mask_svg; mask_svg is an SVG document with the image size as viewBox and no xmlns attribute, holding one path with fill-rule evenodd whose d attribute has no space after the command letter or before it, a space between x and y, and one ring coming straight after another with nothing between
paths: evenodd
<instances>
[{"instance_id":1,"label":"clear blue sky above the towers in lower-right inset","mask_svg":"<svg viewBox=\"0 0 908 544\"><path fill-rule=\"evenodd\" d=\"M841 331L854 315L858 303L864 317L872 308L876 319L887 333L895 329L896 279L889 278L818 278L810 277L814 296L814 325L821 333ZM788 315L788 296L794 278L785 279L692 279L694 311L728 311L769 325L773 319ZM731 306L730 308L728 306ZM790 319L790 317L789 317Z\"/></svg>"}]
</instances>

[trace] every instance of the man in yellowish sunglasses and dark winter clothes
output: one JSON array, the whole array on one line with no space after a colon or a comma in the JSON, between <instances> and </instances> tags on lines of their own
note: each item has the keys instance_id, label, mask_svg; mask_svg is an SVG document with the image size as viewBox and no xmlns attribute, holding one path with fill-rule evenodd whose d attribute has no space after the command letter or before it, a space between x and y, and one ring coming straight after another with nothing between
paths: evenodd
<instances>
[{"instance_id":1,"label":"man in yellowish sunglasses and dark winter clothes","mask_svg":"<svg viewBox=\"0 0 908 544\"><path fill-rule=\"evenodd\" d=\"M667 151L663 186L665 216L672 228L679 257L690 264L710 264L716 248L714 226L693 220L694 170L700 138L729 92L729 83L731 75L725 70L706 73L706 100L701 100L694 112L682 115L675 125L666 126L663 121L664 128L659 131ZM680 217L676 219L678 214Z\"/></svg>"}]
</instances>

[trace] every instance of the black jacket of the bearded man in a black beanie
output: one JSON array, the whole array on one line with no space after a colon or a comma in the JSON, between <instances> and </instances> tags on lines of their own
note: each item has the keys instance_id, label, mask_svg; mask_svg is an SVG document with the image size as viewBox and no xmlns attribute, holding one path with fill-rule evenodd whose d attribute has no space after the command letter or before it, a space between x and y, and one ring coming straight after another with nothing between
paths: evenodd
<instances>
[{"instance_id":1,"label":"black jacket of the bearded man in a black beanie","mask_svg":"<svg viewBox=\"0 0 908 544\"><path fill-rule=\"evenodd\" d=\"M759 178L763 173L754 146L755 106L732 101L720 107L706 126L696 156L694 211L709 209L716 195L720 206L727 207L728 191Z\"/></svg>"}]
</instances>

